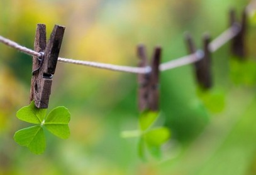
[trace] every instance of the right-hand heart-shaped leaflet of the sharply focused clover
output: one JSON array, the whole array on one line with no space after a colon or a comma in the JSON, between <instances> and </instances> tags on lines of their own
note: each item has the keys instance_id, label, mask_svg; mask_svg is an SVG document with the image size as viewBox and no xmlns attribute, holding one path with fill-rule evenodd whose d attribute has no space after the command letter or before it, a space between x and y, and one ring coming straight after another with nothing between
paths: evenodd
<instances>
[{"instance_id":1,"label":"right-hand heart-shaped leaflet of the sharply focused clover","mask_svg":"<svg viewBox=\"0 0 256 175\"><path fill-rule=\"evenodd\" d=\"M45 119L45 127L61 139L69 138L70 113L65 107L53 109Z\"/></svg>"}]
</instances>

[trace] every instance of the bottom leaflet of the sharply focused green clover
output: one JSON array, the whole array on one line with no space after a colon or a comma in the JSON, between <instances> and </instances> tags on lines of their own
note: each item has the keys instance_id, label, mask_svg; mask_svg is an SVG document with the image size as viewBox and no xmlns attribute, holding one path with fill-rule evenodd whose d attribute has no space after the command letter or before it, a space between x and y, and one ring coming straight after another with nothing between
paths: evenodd
<instances>
[{"instance_id":1,"label":"bottom leaflet of the sharply focused green clover","mask_svg":"<svg viewBox=\"0 0 256 175\"><path fill-rule=\"evenodd\" d=\"M40 125L18 130L14 134L14 141L20 146L28 147L34 154L42 154L45 151L45 134Z\"/></svg>"}]
</instances>

